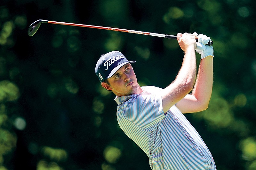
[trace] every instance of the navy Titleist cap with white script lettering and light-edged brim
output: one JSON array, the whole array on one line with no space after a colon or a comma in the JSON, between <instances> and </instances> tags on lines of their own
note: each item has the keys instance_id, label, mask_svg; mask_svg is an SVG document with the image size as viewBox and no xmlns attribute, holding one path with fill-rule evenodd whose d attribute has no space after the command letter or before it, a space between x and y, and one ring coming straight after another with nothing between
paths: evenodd
<instances>
[{"instance_id":1,"label":"navy Titleist cap with white script lettering and light-edged brim","mask_svg":"<svg viewBox=\"0 0 256 170\"><path fill-rule=\"evenodd\" d=\"M95 74L100 82L103 82L105 79L112 77L118 69L127 63L135 63L135 61L128 61L119 51L111 51L101 55L95 67Z\"/></svg>"}]
</instances>

